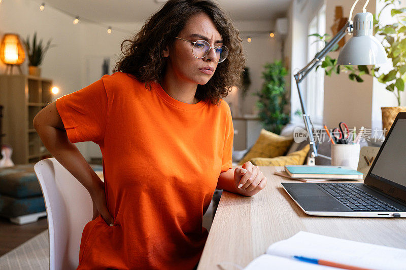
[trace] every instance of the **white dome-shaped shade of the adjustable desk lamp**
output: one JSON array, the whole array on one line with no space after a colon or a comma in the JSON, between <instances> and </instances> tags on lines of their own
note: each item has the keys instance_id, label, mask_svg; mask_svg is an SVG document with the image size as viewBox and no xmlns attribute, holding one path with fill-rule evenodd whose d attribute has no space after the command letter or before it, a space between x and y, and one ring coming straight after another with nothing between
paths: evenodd
<instances>
[{"instance_id":1,"label":"white dome-shaped shade of the adjustable desk lamp","mask_svg":"<svg viewBox=\"0 0 406 270\"><path fill-rule=\"evenodd\" d=\"M372 32L372 14L365 12L355 15L353 37L341 50L337 64L374 65L387 62L385 49Z\"/></svg>"}]
</instances>

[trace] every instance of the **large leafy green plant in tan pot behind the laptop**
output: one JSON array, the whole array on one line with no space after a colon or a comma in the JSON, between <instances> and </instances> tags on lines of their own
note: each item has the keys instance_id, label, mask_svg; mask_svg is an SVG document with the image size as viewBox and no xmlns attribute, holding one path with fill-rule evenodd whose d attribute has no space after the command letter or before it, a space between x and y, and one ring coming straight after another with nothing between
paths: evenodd
<instances>
[{"instance_id":1,"label":"large leafy green plant in tan pot behind the laptop","mask_svg":"<svg viewBox=\"0 0 406 270\"><path fill-rule=\"evenodd\" d=\"M385 88L392 92L396 99L398 106L395 107L381 107L382 110L382 127L384 130L389 131L396 118L396 115L400 111L406 111L406 107L401 106L400 92L404 91L404 85L406 82L406 8L395 8L399 3L398 0L381 0L384 2L384 7L378 13L378 16L374 15L374 32L382 35L382 45L385 48L388 59L392 61L393 69L388 72L380 72L379 67L376 66L340 66L337 65L337 60L326 56L320 66L325 69L325 74L330 76L331 73L339 74L340 71L349 72L349 79L363 82L361 75L369 74L378 79L378 82L385 85ZM388 25L381 25L379 22L381 13L384 9L391 9L391 16L396 19L396 22ZM325 41L328 35L321 36L319 34L313 34L319 37L320 40ZM386 134L385 134L386 135Z\"/></svg>"}]
</instances>

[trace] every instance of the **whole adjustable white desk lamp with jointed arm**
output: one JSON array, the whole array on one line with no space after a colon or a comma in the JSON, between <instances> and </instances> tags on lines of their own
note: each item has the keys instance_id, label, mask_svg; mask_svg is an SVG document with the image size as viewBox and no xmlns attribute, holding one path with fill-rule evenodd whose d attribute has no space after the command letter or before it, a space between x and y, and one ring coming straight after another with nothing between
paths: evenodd
<instances>
[{"instance_id":1,"label":"whole adjustable white desk lamp with jointed arm","mask_svg":"<svg viewBox=\"0 0 406 270\"><path fill-rule=\"evenodd\" d=\"M323 50L316 54L305 67L294 74L296 81L297 91L299 94L301 110L303 114L304 126L309 134L310 151L311 155L308 158L308 165L315 165L315 157L323 157L317 152L317 147L313 138L313 122L310 119L309 114L306 112L306 106L303 103L303 99L300 91L300 83L309 74L309 72L317 66L317 64L323 59L326 54L331 51L335 44L337 44L346 34L353 34L350 40L341 49L337 64L339 65L374 65L382 64L388 61L386 52L382 44L373 36L374 17L371 13L366 12L366 6L369 0L366 1L361 13L357 13L354 16L354 23L351 21L352 13L355 5L359 0L356 0L351 8L349 20L344 27L333 37L331 41L326 44ZM310 129L312 125L312 129Z\"/></svg>"}]
</instances>

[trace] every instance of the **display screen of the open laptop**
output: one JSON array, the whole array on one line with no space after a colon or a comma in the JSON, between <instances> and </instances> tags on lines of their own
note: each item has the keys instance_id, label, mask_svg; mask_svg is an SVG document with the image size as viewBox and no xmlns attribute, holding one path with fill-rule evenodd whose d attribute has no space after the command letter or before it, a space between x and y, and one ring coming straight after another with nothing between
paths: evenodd
<instances>
[{"instance_id":1,"label":"display screen of the open laptop","mask_svg":"<svg viewBox=\"0 0 406 270\"><path fill-rule=\"evenodd\" d=\"M406 119L399 118L369 176L406 190Z\"/></svg>"}]
</instances>

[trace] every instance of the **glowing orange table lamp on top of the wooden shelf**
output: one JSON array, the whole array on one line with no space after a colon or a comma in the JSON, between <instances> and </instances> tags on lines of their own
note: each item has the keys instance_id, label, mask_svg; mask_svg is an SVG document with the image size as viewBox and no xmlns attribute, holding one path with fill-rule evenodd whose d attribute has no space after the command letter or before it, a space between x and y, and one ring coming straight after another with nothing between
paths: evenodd
<instances>
[{"instance_id":1,"label":"glowing orange table lamp on top of the wooden shelf","mask_svg":"<svg viewBox=\"0 0 406 270\"><path fill-rule=\"evenodd\" d=\"M14 65L17 65L20 74L22 74L20 65L25 60L25 52L18 34L6 33L3 36L0 44L0 60L7 65L5 74L9 70L10 74L13 74Z\"/></svg>"}]
</instances>

